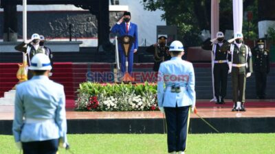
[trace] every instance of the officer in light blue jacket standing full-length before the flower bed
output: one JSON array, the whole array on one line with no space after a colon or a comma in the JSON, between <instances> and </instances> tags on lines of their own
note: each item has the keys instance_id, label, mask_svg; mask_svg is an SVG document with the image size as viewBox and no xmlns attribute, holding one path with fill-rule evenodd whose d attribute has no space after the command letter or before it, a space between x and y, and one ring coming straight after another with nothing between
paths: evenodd
<instances>
[{"instance_id":1,"label":"officer in light blue jacket standing full-length before the flower bed","mask_svg":"<svg viewBox=\"0 0 275 154\"><path fill-rule=\"evenodd\" d=\"M195 109L195 74L190 62L181 60L184 46L178 40L170 44L171 60L162 62L157 78L159 110L165 112L168 153L183 154L186 149L189 109ZM165 88L164 88L165 85Z\"/></svg>"}]
</instances>

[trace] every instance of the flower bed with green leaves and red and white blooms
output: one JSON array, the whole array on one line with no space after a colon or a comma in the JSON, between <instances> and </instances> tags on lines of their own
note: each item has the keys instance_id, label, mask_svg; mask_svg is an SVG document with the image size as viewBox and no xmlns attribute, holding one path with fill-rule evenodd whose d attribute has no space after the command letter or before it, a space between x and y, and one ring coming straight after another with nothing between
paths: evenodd
<instances>
[{"instance_id":1,"label":"flower bed with green leaves and red and white blooms","mask_svg":"<svg viewBox=\"0 0 275 154\"><path fill-rule=\"evenodd\" d=\"M144 111L157 110L157 85L98 84L79 85L77 111Z\"/></svg>"}]
</instances>

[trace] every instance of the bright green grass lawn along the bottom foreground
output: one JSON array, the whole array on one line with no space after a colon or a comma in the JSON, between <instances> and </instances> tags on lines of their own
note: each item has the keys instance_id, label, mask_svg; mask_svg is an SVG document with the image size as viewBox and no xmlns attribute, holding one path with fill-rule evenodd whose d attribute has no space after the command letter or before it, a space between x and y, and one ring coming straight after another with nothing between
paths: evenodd
<instances>
[{"instance_id":1,"label":"bright green grass lawn along the bottom foreground","mask_svg":"<svg viewBox=\"0 0 275 154\"><path fill-rule=\"evenodd\" d=\"M68 140L77 154L167 153L166 134L69 134ZM0 154L18 153L13 137L0 135ZM275 133L190 134L186 154L196 153L273 154Z\"/></svg>"}]
</instances>

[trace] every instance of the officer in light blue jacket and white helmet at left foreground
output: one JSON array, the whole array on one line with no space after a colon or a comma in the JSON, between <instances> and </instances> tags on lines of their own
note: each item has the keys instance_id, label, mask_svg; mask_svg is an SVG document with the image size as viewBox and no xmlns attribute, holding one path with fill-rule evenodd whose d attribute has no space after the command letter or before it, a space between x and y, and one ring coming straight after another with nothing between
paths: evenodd
<instances>
[{"instance_id":1,"label":"officer in light blue jacket and white helmet at left foreground","mask_svg":"<svg viewBox=\"0 0 275 154\"><path fill-rule=\"evenodd\" d=\"M17 86L12 132L23 153L55 154L58 144L67 144L65 92L50 80L52 66L43 53L32 57L34 77Z\"/></svg>"}]
</instances>

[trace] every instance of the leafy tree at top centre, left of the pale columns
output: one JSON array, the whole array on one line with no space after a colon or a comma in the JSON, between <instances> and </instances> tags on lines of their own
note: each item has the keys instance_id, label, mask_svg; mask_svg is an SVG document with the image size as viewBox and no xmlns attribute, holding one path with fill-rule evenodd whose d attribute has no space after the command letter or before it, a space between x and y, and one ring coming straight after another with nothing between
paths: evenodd
<instances>
[{"instance_id":1,"label":"leafy tree at top centre, left of the pale columns","mask_svg":"<svg viewBox=\"0 0 275 154\"><path fill-rule=\"evenodd\" d=\"M178 39L184 40L185 46L200 44L199 40L199 21L195 8L197 3L188 0L143 0L145 10L155 11L163 10L162 19L166 20L167 25L176 25L178 27Z\"/></svg>"}]
</instances>

